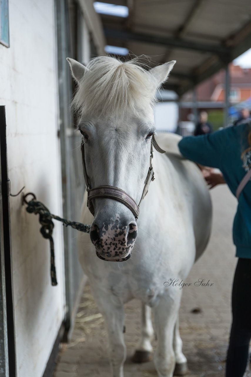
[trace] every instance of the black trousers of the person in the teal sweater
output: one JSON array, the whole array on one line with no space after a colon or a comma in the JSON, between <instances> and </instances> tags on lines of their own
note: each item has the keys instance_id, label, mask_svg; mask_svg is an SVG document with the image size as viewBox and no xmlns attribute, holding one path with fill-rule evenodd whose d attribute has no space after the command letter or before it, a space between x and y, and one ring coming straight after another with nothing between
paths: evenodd
<instances>
[{"instance_id":1,"label":"black trousers of the person in the teal sweater","mask_svg":"<svg viewBox=\"0 0 251 377\"><path fill-rule=\"evenodd\" d=\"M237 262L232 291L232 313L226 377L243 377L251 339L251 259L239 258Z\"/></svg>"}]
</instances>

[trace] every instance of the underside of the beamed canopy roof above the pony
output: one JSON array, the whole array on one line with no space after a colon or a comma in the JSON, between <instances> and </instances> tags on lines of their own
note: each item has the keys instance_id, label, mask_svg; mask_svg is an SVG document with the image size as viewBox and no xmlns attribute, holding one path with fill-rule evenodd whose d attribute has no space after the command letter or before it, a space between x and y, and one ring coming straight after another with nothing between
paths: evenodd
<instances>
[{"instance_id":1,"label":"underside of the beamed canopy roof above the pony","mask_svg":"<svg viewBox=\"0 0 251 377\"><path fill-rule=\"evenodd\" d=\"M102 0L129 16L102 15L107 44L155 64L176 60L165 89L186 93L251 48L250 0Z\"/></svg>"}]
</instances>

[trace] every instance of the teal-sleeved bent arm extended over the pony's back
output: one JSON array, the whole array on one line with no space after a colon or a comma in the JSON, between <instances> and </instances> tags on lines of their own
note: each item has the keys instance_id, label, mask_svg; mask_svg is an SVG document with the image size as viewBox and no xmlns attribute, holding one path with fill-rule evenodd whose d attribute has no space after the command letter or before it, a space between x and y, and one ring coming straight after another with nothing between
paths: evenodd
<instances>
[{"instance_id":1,"label":"teal-sleeved bent arm extended over the pony's back","mask_svg":"<svg viewBox=\"0 0 251 377\"><path fill-rule=\"evenodd\" d=\"M227 147L226 130L207 135L187 136L181 139L178 147L181 154L203 166L221 166L221 157Z\"/></svg>"}]
</instances>

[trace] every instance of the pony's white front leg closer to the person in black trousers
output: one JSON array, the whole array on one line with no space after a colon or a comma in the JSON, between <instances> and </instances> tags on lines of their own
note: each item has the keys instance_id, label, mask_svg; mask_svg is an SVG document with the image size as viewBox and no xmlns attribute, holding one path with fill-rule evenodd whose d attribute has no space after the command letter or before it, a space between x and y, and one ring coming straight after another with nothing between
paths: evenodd
<instances>
[{"instance_id":1,"label":"pony's white front leg closer to the person in black trousers","mask_svg":"<svg viewBox=\"0 0 251 377\"><path fill-rule=\"evenodd\" d=\"M165 294L153 310L158 340L154 363L158 377L172 377L175 369L173 332L180 307L180 297L181 293L178 291L172 291L172 297Z\"/></svg>"}]
</instances>

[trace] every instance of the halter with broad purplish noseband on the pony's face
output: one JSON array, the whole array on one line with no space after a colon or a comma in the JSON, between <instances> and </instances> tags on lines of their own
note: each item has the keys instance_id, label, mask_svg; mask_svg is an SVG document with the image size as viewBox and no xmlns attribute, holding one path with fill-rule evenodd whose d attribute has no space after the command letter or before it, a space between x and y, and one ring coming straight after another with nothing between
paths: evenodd
<instances>
[{"instance_id":1,"label":"halter with broad purplish noseband on the pony's face","mask_svg":"<svg viewBox=\"0 0 251 377\"><path fill-rule=\"evenodd\" d=\"M155 178L154 177L154 170L153 170L153 167L152 167L153 147L160 153L166 153L166 151L164 151L163 149L161 149L158 146L154 135L152 135L151 153L150 153L150 166L149 166L148 173L147 173L147 176L146 176L145 185L144 185L143 193L141 195L140 202L137 204L135 202L135 200L130 195L128 195L124 190L119 189L119 187L106 186L105 185L105 186L99 186L99 187L95 187L94 189L91 189L89 177L88 177L88 174L87 174L86 164L85 164L85 147L84 147L84 143L82 143L82 145L81 145L82 164L83 164L83 170L84 170L86 190L88 192L87 207L89 208L89 210L90 210L90 212L93 216L94 216L94 213L95 213L94 205L93 205L93 202L92 202L93 199L110 198L110 199L116 200L117 202L124 204L127 208L129 208L129 210L133 213L133 215L135 216L135 219L137 220L138 215L140 213L140 208L139 208L140 203L145 198L145 196L148 192L148 188L149 188L151 181L153 181L154 178Z\"/></svg>"}]
</instances>

